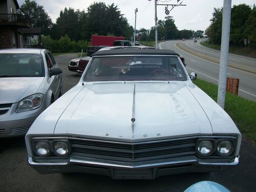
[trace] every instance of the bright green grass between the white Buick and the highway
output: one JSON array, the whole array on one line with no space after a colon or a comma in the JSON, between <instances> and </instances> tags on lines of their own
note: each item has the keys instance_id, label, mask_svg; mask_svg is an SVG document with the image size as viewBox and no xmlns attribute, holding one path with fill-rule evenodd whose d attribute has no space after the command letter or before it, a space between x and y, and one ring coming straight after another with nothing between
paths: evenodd
<instances>
[{"instance_id":1,"label":"bright green grass between the white Buick and the highway","mask_svg":"<svg viewBox=\"0 0 256 192\"><path fill-rule=\"evenodd\" d=\"M217 102L218 86L200 79L194 83ZM226 93L225 111L236 123L245 138L256 142L256 102Z\"/></svg>"}]
</instances>

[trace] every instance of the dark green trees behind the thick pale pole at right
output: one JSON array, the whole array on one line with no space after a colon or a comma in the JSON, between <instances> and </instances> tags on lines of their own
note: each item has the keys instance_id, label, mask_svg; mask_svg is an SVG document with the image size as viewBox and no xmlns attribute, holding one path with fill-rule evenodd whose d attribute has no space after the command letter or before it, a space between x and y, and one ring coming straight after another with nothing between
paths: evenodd
<instances>
[{"instance_id":1,"label":"dark green trees behind the thick pale pole at right","mask_svg":"<svg viewBox=\"0 0 256 192\"><path fill-rule=\"evenodd\" d=\"M223 8L214 8L210 26L205 34L212 44L221 44ZM231 9L230 38L232 46L244 46L244 41L256 47L256 6L252 8L246 4L234 5Z\"/></svg>"}]
</instances>

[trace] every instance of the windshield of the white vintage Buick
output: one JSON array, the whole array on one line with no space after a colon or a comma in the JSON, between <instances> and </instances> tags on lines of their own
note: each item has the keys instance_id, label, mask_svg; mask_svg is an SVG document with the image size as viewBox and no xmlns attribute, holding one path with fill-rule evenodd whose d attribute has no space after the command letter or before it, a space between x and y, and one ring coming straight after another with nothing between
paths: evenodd
<instances>
[{"instance_id":1,"label":"windshield of the white vintage Buick","mask_svg":"<svg viewBox=\"0 0 256 192\"><path fill-rule=\"evenodd\" d=\"M187 80L177 56L94 57L84 81Z\"/></svg>"}]
</instances>

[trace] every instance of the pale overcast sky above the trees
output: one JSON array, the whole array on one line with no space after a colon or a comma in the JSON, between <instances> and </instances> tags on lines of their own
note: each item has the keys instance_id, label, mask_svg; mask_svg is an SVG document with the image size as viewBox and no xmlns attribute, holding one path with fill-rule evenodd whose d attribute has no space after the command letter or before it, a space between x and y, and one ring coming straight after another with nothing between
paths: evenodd
<instances>
[{"instance_id":1,"label":"pale overcast sky above the trees","mask_svg":"<svg viewBox=\"0 0 256 192\"><path fill-rule=\"evenodd\" d=\"M30 0L31 1L31 0ZM214 8L223 7L224 0L180 0L183 5L174 7L169 15L173 16L175 25L178 30L202 30L210 25L210 19ZM17 0L21 6L25 0ZM150 29L155 26L155 1L148 0L36 0L38 5L42 5L48 15L51 17L52 22L56 23L56 18L59 16L61 10L65 7L86 10L94 2L104 2L106 5L114 3L121 11L124 17L127 18L131 26L135 26L135 9L138 8L136 29ZM180 3L179 2L179 3ZM246 4L252 6L256 4L255 0L232 0L233 5ZM177 4L177 0L158 0L158 4ZM170 10L172 6L168 6ZM157 17L159 20L164 20L167 16L164 12L165 6L157 6Z\"/></svg>"}]
</instances>

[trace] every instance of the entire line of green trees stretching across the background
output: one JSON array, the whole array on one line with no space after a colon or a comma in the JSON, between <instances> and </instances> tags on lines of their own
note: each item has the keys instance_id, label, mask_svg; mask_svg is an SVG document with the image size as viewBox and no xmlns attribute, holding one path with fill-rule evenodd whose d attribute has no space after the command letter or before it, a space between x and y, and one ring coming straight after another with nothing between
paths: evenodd
<instances>
[{"instance_id":1,"label":"entire line of green trees stretching across the background","mask_svg":"<svg viewBox=\"0 0 256 192\"><path fill-rule=\"evenodd\" d=\"M53 52L67 52L67 47L70 47L70 51L76 51L83 46L87 47L90 45L92 34L123 36L127 40L131 40L134 32L134 28L129 25L127 19L121 14L116 5L106 5L103 2L94 2L87 10L82 11L65 8L60 11L56 23L52 22L44 7L38 5L35 1L25 0L25 3L20 6L20 12L30 18L32 27L42 27L44 34L42 44L50 47ZM208 35L210 42L220 44L222 9L214 8L210 22L210 26L204 32L202 30L178 30L175 20L172 18L165 21L159 20L158 39L196 38L203 37L205 33ZM233 6L231 12L230 43L232 45L241 45L244 38L247 38L254 45L256 36L255 25L255 5L252 8L245 4ZM141 32L139 35L141 40L155 40L154 28L141 28L139 31ZM66 44L63 44L63 41ZM62 45L65 48L62 49Z\"/></svg>"}]
</instances>

